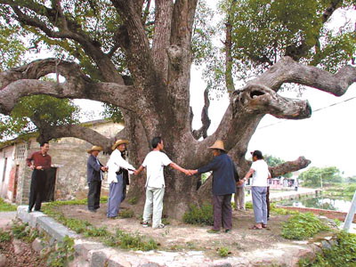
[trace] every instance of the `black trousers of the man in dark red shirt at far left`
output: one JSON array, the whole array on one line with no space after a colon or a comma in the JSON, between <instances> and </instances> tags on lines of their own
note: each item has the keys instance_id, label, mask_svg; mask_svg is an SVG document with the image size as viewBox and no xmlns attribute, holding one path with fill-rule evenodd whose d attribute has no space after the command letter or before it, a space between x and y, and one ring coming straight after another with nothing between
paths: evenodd
<instances>
[{"instance_id":1,"label":"black trousers of the man in dark red shirt at far left","mask_svg":"<svg viewBox=\"0 0 356 267\"><path fill-rule=\"evenodd\" d=\"M31 185L29 188L28 210L41 209L42 200L44 199L44 188L47 174L45 171L34 170L31 177Z\"/></svg>"}]
</instances>

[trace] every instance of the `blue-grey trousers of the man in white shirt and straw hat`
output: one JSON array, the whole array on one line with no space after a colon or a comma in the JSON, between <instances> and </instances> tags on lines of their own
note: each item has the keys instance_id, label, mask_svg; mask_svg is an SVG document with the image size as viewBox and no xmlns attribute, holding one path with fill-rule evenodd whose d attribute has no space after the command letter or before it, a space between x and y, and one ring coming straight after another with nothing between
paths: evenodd
<instances>
[{"instance_id":1,"label":"blue-grey trousers of the man in white shirt and straw hat","mask_svg":"<svg viewBox=\"0 0 356 267\"><path fill-rule=\"evenodd\" d=\"M108 199L108 217L116 217L120 210L121 202L126 197L126 183L123 175L117 175L117 182L111 182L109 185Z\"/></svg>"}]
</instances>

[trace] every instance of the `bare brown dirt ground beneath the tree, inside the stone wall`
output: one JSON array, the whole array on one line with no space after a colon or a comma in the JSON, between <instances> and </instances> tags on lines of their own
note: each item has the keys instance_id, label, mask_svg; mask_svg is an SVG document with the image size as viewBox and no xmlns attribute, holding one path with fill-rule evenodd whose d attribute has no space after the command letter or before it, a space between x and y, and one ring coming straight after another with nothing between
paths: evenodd
<instances>
[{"instance_id":1,"label":"bare brown dirt ground beneath the tree, inside the stone wall","mask_svg":"<svg viewBox=\"0 0 356 267\"><path fill-rule=\"evenodd\" d=\"M143 228L140 224L141 214L136 218L108 219L106 217L106 204L102 204L97 213L90 213L86 206L61 206L61 211L67 217L86 220L96 227L106 226L109 231L116 229L139 233L146 238L152 238L160 245L159 250L183 251L202 250L206 255L214 256L221 247L229 248L230 255L240 255L244 252L253 251L256 248L272 248L277 243L288 242L281 237L281 223L286 222L287 215L273 215L268 227L263 230L250 230L254 225L254 214L252 209L247 211L233 211L233 229L229 233L207 233L211 227L195 226L167 219L169 225L164 229ZM123 206L123 210L128 206Z\"/></svg>"}]
</instances>

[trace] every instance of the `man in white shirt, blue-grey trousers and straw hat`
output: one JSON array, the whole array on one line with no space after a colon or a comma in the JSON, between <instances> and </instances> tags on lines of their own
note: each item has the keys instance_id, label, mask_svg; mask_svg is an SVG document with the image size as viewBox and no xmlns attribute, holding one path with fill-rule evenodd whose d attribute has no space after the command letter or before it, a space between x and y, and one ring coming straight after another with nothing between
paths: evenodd
<instances>
[{"instance_id":1,"label":"man in white shirt, blue-grey trousers and straw hat","mask_svg":"<svg viewBox=\"0 0 356 267\"><path fill-rule=\"evenodd\" d=\"M125 160L128 140L117 140L111 147L114 150L107 163L108 166L108 218L115 219L120 209L120 204L126 196L126 185L129 184L128 174L133 174L134 166Z\"/></svg>"}]
</instances>

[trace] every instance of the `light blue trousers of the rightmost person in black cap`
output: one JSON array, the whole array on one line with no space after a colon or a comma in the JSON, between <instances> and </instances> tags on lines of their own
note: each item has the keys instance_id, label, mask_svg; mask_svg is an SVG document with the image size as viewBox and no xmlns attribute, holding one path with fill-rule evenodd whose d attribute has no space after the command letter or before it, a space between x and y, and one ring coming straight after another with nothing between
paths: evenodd
<instances>
[{"instance_id":1,"label":"light blue trousers of the rightmost person in black cap","mask_svg":"<svg viewBox=\"0 0 356 267\"><path fill-rule=\"evenodd\" d=\"M254 206L255 223L267 224L267 187L253 186L252 191L252 205Z\"/></svg>"}]
</instances>

